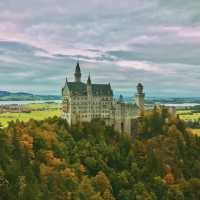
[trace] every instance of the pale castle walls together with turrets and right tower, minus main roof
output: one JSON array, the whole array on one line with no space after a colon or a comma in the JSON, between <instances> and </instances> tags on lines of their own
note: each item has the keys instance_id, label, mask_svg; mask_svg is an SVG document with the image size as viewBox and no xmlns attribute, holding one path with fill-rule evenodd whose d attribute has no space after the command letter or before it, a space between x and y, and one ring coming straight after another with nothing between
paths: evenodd
<instances>
[{"instance_id":1,"label":"pale castle walls together with turrets and right tower, minus main roof","mask_svg":"<svg viewBox=\"0 0 200 200\"><path fill-rule=\"evenodd\" d=\"M76 76L78 76L78 82L80 82L81 73L79 65L75 73L75 82L77 82ZM107 125L113 126L115 130L131 134L133 119L138 117L139 110L144 109L142 84L138 84L137 86L136 103L128 104L123 101L114 100L112 94L106 96L102 94L92 95L90 77L88 81L87 94L80 95L70 92L66 80L65 86L62 89L62 117L67 120L69 125L80 122L90 122L92 119L100 118L103 119Z\"/></svg>"}]
</instances>

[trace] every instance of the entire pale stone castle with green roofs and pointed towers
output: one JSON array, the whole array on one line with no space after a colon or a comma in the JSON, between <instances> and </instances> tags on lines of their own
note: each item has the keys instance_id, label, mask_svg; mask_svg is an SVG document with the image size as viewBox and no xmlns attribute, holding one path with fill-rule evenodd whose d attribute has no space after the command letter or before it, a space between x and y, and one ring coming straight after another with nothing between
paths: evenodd
<instances>
[{"instance_id":1,"label":"entire pale stone castle with green roofs and pointed towers","mask_svg":"<svg viewBox=\"0 0 200 200\"><path fill-rule=\"evenodd\" d=\"M144 110L143 85L137 85L135 102L125 103L122 95L118 100L113 97L110 83L94 84L90 75L86 83L81 81L81 69L77 62L74 82L66 79L62 88L62 117L69 125L103 119L115 130L133 134L135 121Z\"/></svg>"}]
</instances>

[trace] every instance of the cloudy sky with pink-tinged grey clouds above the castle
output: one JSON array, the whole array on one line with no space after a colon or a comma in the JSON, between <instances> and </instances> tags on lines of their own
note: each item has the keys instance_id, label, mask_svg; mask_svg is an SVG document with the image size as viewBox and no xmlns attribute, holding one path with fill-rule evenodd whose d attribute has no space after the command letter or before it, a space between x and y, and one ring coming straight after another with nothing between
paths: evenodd
<instances>
[{"instance_id":1,"label":"cloudy sky with pink-tinged grey clouds above the castle","mask_svg":"<svg viewBox=\"0 0 200 200\"><path fill-rule=\"evenodd\" d=\"M132 96L200 96L199 0L1 0L0 90L61 94L82 81Z\"/></svg>"}]
</instances>

